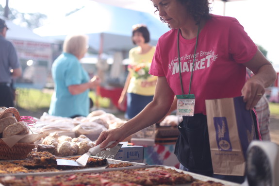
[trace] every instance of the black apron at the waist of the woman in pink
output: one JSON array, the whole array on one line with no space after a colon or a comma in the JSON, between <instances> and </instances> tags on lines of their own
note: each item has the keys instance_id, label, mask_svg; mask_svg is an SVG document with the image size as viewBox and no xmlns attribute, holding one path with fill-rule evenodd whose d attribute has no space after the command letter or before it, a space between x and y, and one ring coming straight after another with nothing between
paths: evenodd
<instances>
[{"instance_id":1,"label":"black apron at the waist of the woman in pink","mask_svg":"<svg viewBox=\"0 0 279 186\"><path fill-rule=\"evenodd\" d=\"M206 116L183 117L178 130L174 153L180 163L190 171L213 171Z\"/></svg>"}]
</instances>

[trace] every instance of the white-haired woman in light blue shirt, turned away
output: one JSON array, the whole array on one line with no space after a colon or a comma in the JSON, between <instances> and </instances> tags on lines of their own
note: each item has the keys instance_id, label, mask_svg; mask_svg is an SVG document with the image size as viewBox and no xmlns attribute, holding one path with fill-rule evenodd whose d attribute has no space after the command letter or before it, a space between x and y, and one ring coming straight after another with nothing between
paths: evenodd
<instances>
[{"instance_id":1,"label":"white-haired woman in light blue shirt, turned away","mask_svg":"<svg viewBox=\"0 0 279 186\"><path fill-rule=\"evenodd\" d=\"M54 61L51 73L55 83L49 114L75 118L89 114L89 89L99 85L98 76L91 80L80 59L87 52L87 35L68 35L63 53Z\"/></svg>"}]
</instances>

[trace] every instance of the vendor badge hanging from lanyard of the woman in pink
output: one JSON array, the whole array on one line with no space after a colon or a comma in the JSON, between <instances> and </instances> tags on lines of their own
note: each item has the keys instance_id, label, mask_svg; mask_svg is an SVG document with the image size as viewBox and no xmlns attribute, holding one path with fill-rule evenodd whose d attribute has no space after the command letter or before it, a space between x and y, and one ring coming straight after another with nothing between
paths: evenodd
<instances>
[{"instance_id":1,"label":"vendor badge hanging from lanyard of the woman in pink","mask_svg":"<svg viewBox=\"0 0 279 186\"><path fill-rule=\"evenodd\" d=\"M177 116L194 116L195 95L176 95L177 98Z\"/></svg>"}]
</instances>

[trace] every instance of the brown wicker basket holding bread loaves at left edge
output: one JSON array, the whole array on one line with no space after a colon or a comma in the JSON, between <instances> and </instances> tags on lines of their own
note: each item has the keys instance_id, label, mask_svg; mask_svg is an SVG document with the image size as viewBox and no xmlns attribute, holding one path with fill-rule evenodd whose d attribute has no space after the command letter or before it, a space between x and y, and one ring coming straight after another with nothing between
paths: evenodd
<instances>
[{"instance_id":1,"label":"brown wicker basket holding bread loaves at left edge","mask_svg":"<svg viewBox=\"0 0 279 186\"><path fill-rule=\"evenodd\" d=\"M12 148L0 139L0 159L18 160L25 159L27 154L35 148L33 143L16 143Z\"/></svg>"}]
</instances>

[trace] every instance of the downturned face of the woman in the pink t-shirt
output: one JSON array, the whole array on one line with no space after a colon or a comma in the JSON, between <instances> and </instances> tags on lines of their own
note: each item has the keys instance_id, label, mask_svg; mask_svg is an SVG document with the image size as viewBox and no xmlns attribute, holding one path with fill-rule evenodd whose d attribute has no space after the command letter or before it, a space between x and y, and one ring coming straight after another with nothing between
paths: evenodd
<instances>
[{"instance_id":1,"label":"downturned face of the woman in the pink t-shirt","mask_svg":"<svg viewBox=\"0 0 279 186\"><path fill-rule=\"evenodd\" d=\"M159 10L159 16L165 20L170 28L179 29L190 18L186 11L186 3L181 3L179 0L152 0L152 2Z\"/></svg>"}]
</instances>

